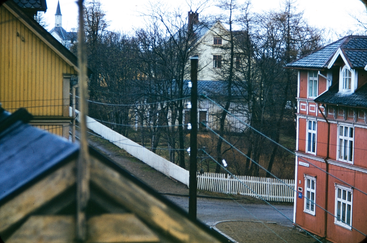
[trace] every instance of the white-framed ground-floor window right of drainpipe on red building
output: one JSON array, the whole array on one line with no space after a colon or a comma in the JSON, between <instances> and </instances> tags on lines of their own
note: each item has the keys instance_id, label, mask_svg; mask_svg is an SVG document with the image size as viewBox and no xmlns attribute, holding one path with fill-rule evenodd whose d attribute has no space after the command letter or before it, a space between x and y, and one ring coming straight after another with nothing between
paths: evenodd
<instances>
[{"instance_id":1,"label":"white-framed ground-floor window right of drainpipe on red building","mask_svg":"<svg viewBox=\"0 0 367 243\"><path fill-rule=\"evenodd\" d=\"M352 229L353 190L335 184L335 224Z\"/></svg>"}]
</instances>

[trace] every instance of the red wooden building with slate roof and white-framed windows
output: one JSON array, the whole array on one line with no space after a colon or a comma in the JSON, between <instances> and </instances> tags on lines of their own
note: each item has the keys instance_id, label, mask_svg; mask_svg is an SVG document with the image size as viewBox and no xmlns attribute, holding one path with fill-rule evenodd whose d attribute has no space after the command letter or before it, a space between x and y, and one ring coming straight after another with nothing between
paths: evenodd
<instances>
[{"instance_id":1,"label":"red wooden building with slate roof and white-framed windows","mask_svg":"<svg viewBox=\"0 0 367 243\"><path fill-rule=\"evenodd\" d=\"M367 36L346 36L286 68L298 70L294 222L331 242L359 242L367 234Z\"/></svg>"}]
</instances>

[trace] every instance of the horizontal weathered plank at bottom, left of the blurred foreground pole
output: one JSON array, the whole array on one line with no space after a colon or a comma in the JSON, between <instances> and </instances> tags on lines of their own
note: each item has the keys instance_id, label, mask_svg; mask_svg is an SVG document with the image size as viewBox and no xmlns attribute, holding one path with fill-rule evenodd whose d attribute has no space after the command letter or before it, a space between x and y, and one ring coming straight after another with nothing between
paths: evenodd
<instances>
[{"instance_id":1,"label":"horizontal weathered plank at bottom, left of the blurred foreground pole","mask_svg":"<svg viewBox=\"0 0 367 243\"><path fill-rule=\"evenodd\" d=\"M31 216L7 243L70 243L75 239L73 216Z\"/></svg>"}]
</instances>

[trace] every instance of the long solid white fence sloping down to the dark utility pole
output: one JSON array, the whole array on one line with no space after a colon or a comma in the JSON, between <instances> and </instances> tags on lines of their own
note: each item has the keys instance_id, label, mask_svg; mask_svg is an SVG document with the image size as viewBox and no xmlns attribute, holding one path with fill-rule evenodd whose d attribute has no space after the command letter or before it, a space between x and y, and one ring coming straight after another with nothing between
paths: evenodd
<instances>
[{"instance_id":1,"label":"long solid white fence sloping down to the dark utility pole","mask_svg":"<svg viewBox=\"0 0 367 243\"><path fill-rule=\"evenodd\" d=\"M72 116L72 107L70 107L69 110L70 116ZM79 113L78 110L75 110L75 112L76 114ZM76 120L79 121L80 117L77 116ZM171 163L170 161L153 153L149 149L144 148L136 142L131 141L130 139L113 131L112 129L106 127L89 116L87 116L87 127L99 134L101 137L109 140L119 148L126 150L126 152L130 153L130 155L155 168L157 171L160 171L168 177L172 177L177 181L189 186L189 171L179 167L174 163Z\"/></svg>"}]
</instances>

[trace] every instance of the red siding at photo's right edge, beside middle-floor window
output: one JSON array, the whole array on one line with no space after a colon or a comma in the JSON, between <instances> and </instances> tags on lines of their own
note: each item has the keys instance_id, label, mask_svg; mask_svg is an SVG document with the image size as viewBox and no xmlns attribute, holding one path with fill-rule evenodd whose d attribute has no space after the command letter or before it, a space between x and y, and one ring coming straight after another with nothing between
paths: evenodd
<instances>
[{"instance_id":1,"label":"red siding at photo's right edge, beside middle-floor window","mask_svg":"<svg viewBox=\"0 0 367 243\"><path fill-rule=\"evenodd\" d=\"M367 129L356 127L354 131L354 158L355 166L367 168ZM366 175L367 177L367 175ZM366 178L364 179L366 181ZM367 202L367 196L366 196Z\"/></svg>"}]
</instances>

